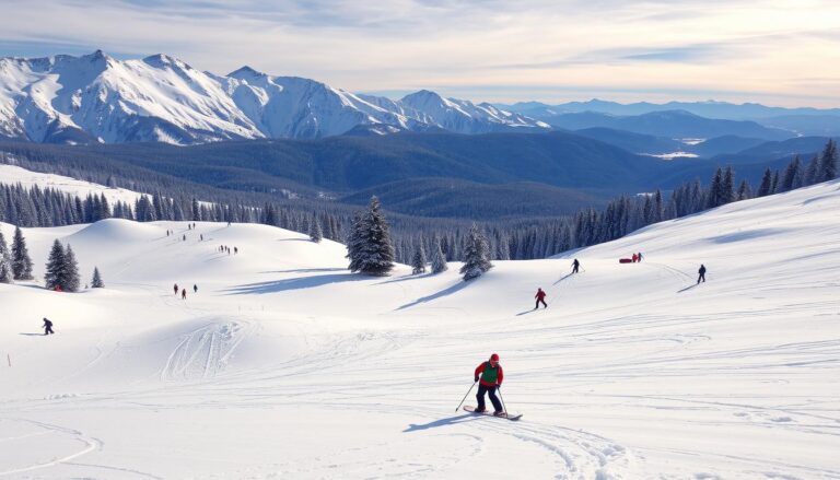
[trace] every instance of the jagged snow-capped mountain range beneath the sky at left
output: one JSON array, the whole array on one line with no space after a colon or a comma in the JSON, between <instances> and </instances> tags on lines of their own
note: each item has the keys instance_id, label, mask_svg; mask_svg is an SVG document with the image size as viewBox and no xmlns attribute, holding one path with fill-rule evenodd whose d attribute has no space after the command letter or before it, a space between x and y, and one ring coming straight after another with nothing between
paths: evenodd
<instances>
[{"instance_id":1,"label":"jagged snow-capped mountain range beneath the sky at left","mask_svg":"<svg viewBox=\"0 0 840 480\"><path fill-rule=\"evenodd\" d=\"M0 137L50 143L189 144L313 139L358 126L388 127L376 129L383 133L549 128L490 104L429 91L393 101L249 67L217 75L166 55L117 60L97 50L81 57L0 59Z\"/></svg>"}]
</instances>

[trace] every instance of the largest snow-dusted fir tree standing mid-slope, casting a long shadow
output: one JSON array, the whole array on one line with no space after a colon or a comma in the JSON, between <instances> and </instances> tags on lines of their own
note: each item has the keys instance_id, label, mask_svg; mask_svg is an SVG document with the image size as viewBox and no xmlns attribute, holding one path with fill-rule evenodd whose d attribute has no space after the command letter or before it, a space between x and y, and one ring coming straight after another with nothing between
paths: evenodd
<instances>
[{"instance_id":1,"label":"largest snow-dusted fir tree standing mid-slope, casting a long shadow","mask_svg":"<svg viewBox=\"0 0 840 480\"><path fill-rule=\"evenodd\" d=\"M368 210L355 216L347 248L350 271L385 276L394 268L394 244L378 198L371 197Z\"/></svg>"}]
</instances>

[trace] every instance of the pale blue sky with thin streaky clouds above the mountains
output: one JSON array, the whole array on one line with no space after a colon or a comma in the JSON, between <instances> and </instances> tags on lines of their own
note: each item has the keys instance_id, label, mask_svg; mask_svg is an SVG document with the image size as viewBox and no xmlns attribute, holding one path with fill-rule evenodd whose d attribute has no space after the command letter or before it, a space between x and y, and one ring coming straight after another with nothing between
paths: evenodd
<instances>
[{"instance_id":1,"label":"pale blue sky with thin streaky clouds above the mountains","mask_svg":"<svg viewBox=\"0 0 840 480\"><path fill-rule=\"evenodd\" d=\"M837 0L0 0L0 56L165 52L352 92L840 107Z\"/></svg>"}]
</instances>

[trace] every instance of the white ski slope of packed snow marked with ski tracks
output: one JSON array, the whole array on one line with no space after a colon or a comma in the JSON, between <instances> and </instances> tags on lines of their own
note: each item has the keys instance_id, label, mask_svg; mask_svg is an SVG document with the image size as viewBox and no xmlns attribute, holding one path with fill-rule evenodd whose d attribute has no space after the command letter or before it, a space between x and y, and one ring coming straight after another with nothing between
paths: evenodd
<instances>
[{"instance_id":1,"label":"white ski slope of packed snow marked with ski tracks","mask_svg":"<svg viewBox=\"0 0 840 480\"><path fill-rule=\"evenodd\" d=\"M264 225L24 234L106 289L0 284L0 476L840 478L837 182L469 283ZM455 410L493 352L518 422Z\"/></svg>"}]
</instances>

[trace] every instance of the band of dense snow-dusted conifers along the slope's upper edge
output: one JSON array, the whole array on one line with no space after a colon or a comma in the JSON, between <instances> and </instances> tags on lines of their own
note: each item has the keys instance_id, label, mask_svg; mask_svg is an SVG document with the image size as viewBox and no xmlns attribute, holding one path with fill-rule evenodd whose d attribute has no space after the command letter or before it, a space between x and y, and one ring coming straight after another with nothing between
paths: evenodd
<instances>
[{"instance_id":1,"label":"band of dense snow-dusted conifers along the slope's upper edge","mask_svg":"<svg viewBox=\"0 0 840 480\"><path fill-rule=\"evenodd\" d=\"M732 201L789 191L837 178L837 144L829 140L807 163L795 156L781 171L767 169L761 183L736 182L732 167L718 168L708 186L686 182L666 195L660 190L621 196L605 208L574 215L477 223L487 243L489 259L536 259L619 238L643 226L698 213ZM199 201L177 191L140 195L133 203L109 204L104 195L85 198L51 188L0 184L0 221L20 226L60 226L105 218L141 222L156 220L264 223L350 245L357 218L346 206L310 202L261 204L225 203L213 198ZM381 206L378 207L381 209ZM389 215L394 261L417 264L418 255L432 260L440 249L443 261L463 260L472 238L471 222ZM370 220L370 219L369 219ZM423 262L425 264L425 262ZM440 262L439 262L440 265Z\"/></svg>"}]
</instances>

